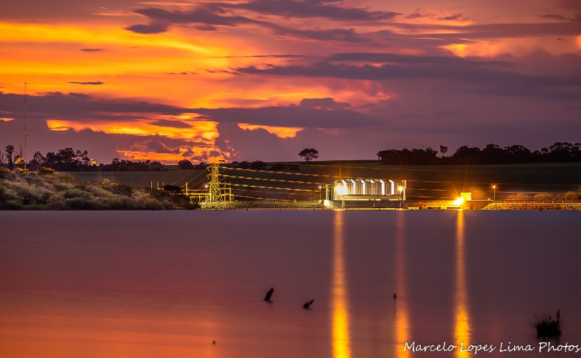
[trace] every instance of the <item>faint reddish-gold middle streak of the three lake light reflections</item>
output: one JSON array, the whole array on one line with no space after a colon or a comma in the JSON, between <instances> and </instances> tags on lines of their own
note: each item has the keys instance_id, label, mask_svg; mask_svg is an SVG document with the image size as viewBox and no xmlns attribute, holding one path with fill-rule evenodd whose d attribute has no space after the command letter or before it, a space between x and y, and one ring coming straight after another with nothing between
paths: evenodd
<instances>
[{"instance_id":1,"label":"faint reddish-gold middle streak of the three lake light reflections","mask_svg":"<svg viewBox=\"0 0 581 358\"><path fill-rule=\"evenodd\" d=\"M396 357L407 358L410 356L410 350L404 351L406 342L410 342L410 318L407 306L407 285L406 285L406 246L404 235L404 212L397 213L396 226L396 293L397 300L394 300L395 306L395 350Z\"/></svg>"}]
</instances>

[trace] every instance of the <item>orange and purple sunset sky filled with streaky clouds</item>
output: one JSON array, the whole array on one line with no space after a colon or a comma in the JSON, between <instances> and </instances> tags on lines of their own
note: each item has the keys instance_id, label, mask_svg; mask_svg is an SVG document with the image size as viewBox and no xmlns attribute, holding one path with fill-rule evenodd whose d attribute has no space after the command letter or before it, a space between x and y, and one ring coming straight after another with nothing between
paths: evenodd
<instances>
[{"instance_id":1,"label":"orange and purple sunset sky filled with streaky clouds","mask_svg":"<svg viewBox=\"0 0 581 358\"><path fill-rule=\"evenodd\" d=\"M581 0L0 0L0 146L376 159L581 142Z\"/></svg>"}]
</instances>

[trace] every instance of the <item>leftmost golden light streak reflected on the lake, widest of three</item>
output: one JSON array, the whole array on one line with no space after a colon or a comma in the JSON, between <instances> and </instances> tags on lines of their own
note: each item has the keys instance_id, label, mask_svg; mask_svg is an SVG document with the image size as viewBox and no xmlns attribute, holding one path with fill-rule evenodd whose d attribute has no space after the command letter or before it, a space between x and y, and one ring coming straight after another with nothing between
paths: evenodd
<instances>
[{"instance_id":1,"label":"leftmost golden light streak reflected on the lake, widest of three","mask_svg":"<svg viewBox=\"0 0 581 358\"><path fill-rule=\"evenodd\" d=\"M347 287L345 282L345 253L343 252L343 216L345 212L335 210L333 225L333 292L332 348L333 357L349 358L349 311L347 310Z\"/></svg>"}]
</instances>

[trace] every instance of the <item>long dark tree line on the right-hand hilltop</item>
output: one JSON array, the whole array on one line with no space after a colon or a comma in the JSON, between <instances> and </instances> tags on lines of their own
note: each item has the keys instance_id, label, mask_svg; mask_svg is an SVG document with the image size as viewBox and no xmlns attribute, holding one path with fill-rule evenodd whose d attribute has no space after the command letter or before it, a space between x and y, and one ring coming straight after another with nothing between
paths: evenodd
<instances>
[{"instance_id":1,"label":"long dark tree line on the right-hand hilltop","mask_svg":"<svg viewBox=\"0 0 581 358\"><path fill-rule=\"evenodd\" d=\"M522 145L505 146L488 144L485 148L468 147L456 149L446 156L448 148L440 145L440 153L432 148L389 149L379 151L377 157L384 164L430 165L430 164L522 164L542 162L581 162L581 143L557 142L548 148L530 151Z\"/></svg>"}]
</instances>

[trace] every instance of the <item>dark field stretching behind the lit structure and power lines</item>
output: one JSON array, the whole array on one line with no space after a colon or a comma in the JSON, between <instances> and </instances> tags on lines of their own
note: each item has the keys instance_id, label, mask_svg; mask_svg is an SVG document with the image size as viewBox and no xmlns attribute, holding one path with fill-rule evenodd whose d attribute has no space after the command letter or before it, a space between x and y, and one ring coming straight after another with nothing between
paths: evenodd
<instances>
[{"instance_id":1,"label":"dark field stretching behind the lit structure and power lines","mask_svg":"<svg viewBox=\"0 0 581 358\"><path fill-rule=\"evenodd\" d=\"M266 163L268 167L274 163ZM299 170L241 170L238 164L221 164L224 181L232 184L238 200L278 199L314 201L324 199L324 184L346 178L381 178L407 180L409 199L451 199L461 191L472 192L474 199L492 199L492 184L497 185L496 199L517 193L563 195L581 191L581 163L532 163L463 166L386 166L377 160L340 160L333 162L292 162ZM134 187L157 188L162 185L200 188L206 184L207 170L141 172L69 172L88 181L108 179ZM555 196L555 197L557 197Z\"/></svg>"}]
</instances>

